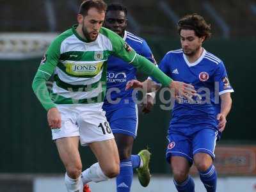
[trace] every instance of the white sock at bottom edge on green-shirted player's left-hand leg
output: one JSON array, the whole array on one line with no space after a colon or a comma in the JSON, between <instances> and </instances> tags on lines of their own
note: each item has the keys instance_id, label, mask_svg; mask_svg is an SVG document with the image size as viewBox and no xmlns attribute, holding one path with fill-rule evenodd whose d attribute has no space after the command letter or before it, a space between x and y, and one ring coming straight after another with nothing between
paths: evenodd
<instances>
[{"instance_id":1,"label":"white sock at bottom edge on green-shirted player's left-hand leg","mask_svg":"<svg viewBox=\"0 0 256 192\"><path fill-rule=\"evenodd\" d=\"M65 184L68 192L83 192L83 182L81 181L81 176L77 179L71 179L65 174Z\"/></svg>"}]
</instances>

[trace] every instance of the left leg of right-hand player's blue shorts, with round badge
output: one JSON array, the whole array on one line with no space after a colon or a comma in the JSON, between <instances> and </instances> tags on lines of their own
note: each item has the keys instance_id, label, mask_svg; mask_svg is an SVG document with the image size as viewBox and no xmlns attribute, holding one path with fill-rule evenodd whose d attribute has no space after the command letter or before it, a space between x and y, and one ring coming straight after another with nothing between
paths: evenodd
<instances>
[{"instance_id":1,"label":"left leg of right-hand player's blue shorts, with round badge","mask_svg":"<svg viewBox=\"0 0 256 192\"><path fill-rule=\"evenodd\" d=\"M191 140L182 132L171 131L168 134L168 145L166 148L166 161L170 163L171 157L183 157L189 164L193 163Z\"/></svg>"}]
</instances>

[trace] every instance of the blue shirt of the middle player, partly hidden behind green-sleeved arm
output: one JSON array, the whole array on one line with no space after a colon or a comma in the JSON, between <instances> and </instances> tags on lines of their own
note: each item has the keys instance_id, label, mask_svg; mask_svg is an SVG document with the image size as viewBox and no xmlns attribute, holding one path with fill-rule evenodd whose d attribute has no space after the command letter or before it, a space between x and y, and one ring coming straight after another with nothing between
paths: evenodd
<instances>
[{"instance_id":1,"label":"blue shirt of the middle player, partly hidden behind green-sleeved arm","mask_svg":"<svg viewBox=\"0 0 256 192\"><path fill-rule=\"evenodd\" d=\"M143 38L125 31L124 40L134 51L156 64L152 51ZM107 62L107 93L104 100L104 109L107 111L108 109L118 108L118 104L134 103L132 100L132 89L125 91L125 86L127 81L136 79L136 68L115 56L109 57ZM120 101L113 105L111 100L115 102Z\"/></svg>"}]
</instances>

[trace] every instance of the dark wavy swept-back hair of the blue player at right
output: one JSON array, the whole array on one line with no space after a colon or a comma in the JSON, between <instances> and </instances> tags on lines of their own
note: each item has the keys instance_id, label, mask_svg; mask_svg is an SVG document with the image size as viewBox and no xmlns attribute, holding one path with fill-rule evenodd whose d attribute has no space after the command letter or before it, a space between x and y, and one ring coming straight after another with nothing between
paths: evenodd
<instances>
[{"instance_id":1,"label":"dark wavy swept-back hair of the blue player at right","mask_svg":"<svg viewBox=\"0 0 256 192\"><path fill-rule=\"evenodd\" d=\"M205 40L211 37L211 25L207 24L204 17L193 13L191 15L186 15L178 22L178 31L182 29L194 30L195 35L198 37L205 36Z\"/></svg>"}]
</instances>

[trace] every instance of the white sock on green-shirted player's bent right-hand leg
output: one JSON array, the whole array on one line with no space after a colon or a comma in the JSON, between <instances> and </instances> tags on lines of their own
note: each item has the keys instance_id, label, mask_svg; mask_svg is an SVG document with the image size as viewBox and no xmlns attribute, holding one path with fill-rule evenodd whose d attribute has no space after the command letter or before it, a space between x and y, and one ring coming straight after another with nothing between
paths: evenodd
<instances>
[{"instance_id":1,"label":"white sock on green-shirted player's bent right-hand leg","mask_svg":"<svg viewBox=\"0 0 256 192\"><path fill-rule=\"evenodd\" d=\"M100 182L109 178L102 172L99 163L94 163L90 168L82 172L81 179L83 184L87 184L90 181Z\"/></svg>"}]
</instances>

